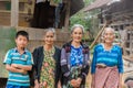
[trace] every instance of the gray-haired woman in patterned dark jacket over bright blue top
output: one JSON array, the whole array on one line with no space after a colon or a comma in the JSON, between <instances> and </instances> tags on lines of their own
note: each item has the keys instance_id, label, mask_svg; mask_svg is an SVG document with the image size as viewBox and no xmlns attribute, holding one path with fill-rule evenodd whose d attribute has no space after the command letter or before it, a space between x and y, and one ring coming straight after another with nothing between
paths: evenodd
<instances>
[{"instance_id":1,"label":"gray-haired woman in patterned dark jacket over bright blue top","mask_svg":"<svg viewBox=\"0 0 133 88\"><path fill-rule=\"evenodd\" d=\"M62 88L85 88L85 78L89 73L89 46L81 42L83 32L82 25L73 25L72 41L62 47Z\"/></svg>"}]
</instances>

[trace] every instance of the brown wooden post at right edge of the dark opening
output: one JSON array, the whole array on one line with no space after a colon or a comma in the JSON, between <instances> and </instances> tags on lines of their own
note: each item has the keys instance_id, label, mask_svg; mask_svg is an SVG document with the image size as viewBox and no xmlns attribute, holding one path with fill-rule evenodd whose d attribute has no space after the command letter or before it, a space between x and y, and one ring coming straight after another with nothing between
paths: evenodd
<instances>
[{"instance_id":1,"label":"brown wooden post at right edge of the dark opening","mask_svg":"<svg viewBox=\"0 0 133 88\"><path fill-rule=\"evenodd\" d=\"M71 0L68 0L68 2L66 2L66 12L65 12L65 22L64 22L65 31L69 30L70 8L71 8Z\"/></svg>"}]
</instances>

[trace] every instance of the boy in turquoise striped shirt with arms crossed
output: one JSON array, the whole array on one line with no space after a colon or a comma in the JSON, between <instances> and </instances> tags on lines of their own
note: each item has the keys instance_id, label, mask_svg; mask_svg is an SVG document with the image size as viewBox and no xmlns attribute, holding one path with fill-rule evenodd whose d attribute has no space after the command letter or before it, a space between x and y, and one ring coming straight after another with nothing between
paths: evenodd
<instances>
[{"instance_id":1,"label":"boy in turquoise striped shirt with arms crossed","mask_svg":"<svg viewBox=\"0 0 133 88\"><path fill-rule=\"evenodd\" d=\"M3 64L9 72L7 88L29 88L30 78L28 70L32 69L32 55L25 50L29 42L29 34L19 31L16 35L17 47L9 50Z\"/></svg>"}]
</instances>

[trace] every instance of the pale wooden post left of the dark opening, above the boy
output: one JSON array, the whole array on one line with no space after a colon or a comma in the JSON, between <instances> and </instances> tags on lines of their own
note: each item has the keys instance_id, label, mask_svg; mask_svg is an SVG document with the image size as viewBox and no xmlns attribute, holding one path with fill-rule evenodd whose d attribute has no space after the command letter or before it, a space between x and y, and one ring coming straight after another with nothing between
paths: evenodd
<instances>
[{"instance_id":1,"label":"pale wooden post left of the dark opening, above the boy","mask_svg":"<svg viewBox=\"0 0 133 88\"><path fill-rule=\"evenodd\" d=\"M11 26L18 26L19 0L11 0Z\"/></svg>"}]
</instances>

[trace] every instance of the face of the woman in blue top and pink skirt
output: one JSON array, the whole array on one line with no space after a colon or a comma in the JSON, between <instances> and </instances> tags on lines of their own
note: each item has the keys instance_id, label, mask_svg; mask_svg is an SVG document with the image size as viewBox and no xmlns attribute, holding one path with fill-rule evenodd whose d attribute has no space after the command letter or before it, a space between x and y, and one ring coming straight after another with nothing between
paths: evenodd
<instances>
[{"instance_id":1,"label":"face of the woman in blue top and pink skirt","mask_svg":"<svg viewBox=\"0 0 133 88\"><path fill-rule=\"evenodd\" d=\"M104 36L104 42L110 43L110 44L113 43L114 37L115 37L114 32L112 30L110 30L110 29L105 30L103 36Z\"/></svg>"}]
</instances>

